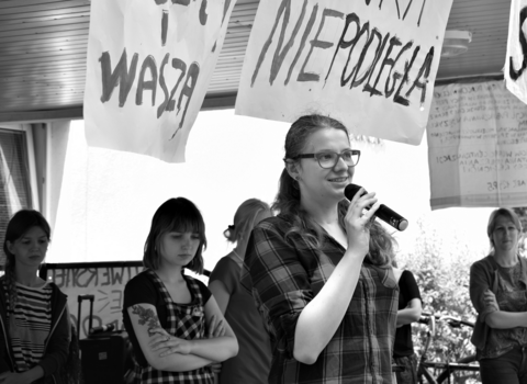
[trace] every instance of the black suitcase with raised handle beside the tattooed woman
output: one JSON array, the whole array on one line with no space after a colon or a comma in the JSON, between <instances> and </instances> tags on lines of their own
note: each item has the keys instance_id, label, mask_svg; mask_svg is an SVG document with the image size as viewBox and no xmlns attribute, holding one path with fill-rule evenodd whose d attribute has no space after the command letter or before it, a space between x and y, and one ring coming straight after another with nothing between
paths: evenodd
<instances>
[{"instance_id":1,"label":"black suitcase with raised handle beside the tattooed woman","mask_svg":"<svg viewBox=\"0 0 527 384\"><path fill-rule=\"evenodd\" d=\"M132 345L124 330L92 332L93 295L79 295L77 329L80 329L82 302L90 301L88 337L79 340L82 375L87 384L122 384L133 369ZM80 334L80 332L79 332Z\"/></svg>"}]
</instances>

